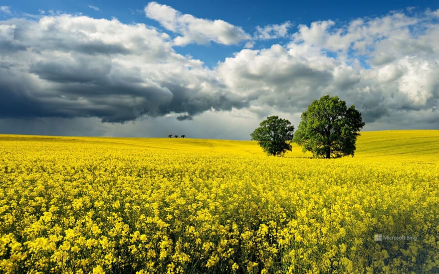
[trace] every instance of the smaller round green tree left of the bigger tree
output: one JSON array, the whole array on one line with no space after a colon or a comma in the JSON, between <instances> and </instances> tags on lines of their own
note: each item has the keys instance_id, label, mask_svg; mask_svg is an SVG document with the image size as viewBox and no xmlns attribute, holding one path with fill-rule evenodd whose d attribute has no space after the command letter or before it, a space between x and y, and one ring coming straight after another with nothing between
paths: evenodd
<instances>
[{"instance_id":1,"label":"smaller round green tree left of the bigger tree","mask_svg":"<svg viewBox=\"0 0 439 274\"><path fill-rule=\"evenodd\" d=\"M294 126L290 121L277 116L269 116L259 124L259 128L250 134L252 140L256 140L262 150L268 155L283 156L285 151L291 151Z\"/></svg>"}]
</instances>

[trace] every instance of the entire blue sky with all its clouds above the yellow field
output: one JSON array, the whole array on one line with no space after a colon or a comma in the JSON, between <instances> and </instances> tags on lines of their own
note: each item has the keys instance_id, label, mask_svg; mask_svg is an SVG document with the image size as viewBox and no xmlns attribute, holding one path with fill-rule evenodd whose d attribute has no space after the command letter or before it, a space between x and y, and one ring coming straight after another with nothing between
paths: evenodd
<instances>
[{"instance_id":1,"label":"entire blue sky with all its clouds above the yellow field","mask_svg":"<svg viewBox=\"0 0 439 274\"><path fill-rule=\"evenodd\" d=\"M0 2L0 134L249 139L329 94L439 129L439 1Z\"/></svg>"}]
</instances>

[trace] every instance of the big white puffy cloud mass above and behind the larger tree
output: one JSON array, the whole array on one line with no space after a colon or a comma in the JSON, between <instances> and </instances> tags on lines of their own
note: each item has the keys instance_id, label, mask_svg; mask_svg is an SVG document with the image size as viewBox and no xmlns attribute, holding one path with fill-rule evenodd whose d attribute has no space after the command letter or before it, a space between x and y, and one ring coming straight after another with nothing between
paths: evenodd
<instances>
[{"instance_id":1,"label":"big white puffy cloud mass above and behind the larger tree","mask_svg":"<svg viewBox=\"0 0 439 274\"><path fill-rule=\"evenodd\" d=\"M287 46L243 49L217 73L261 116L299 114L330 94L355 104L369 129L410 128L410 117L419 120L421 113L425 127L437 128L439 24L432 16L391 13L300 25Z\"/></svg>"}]
</instances>

